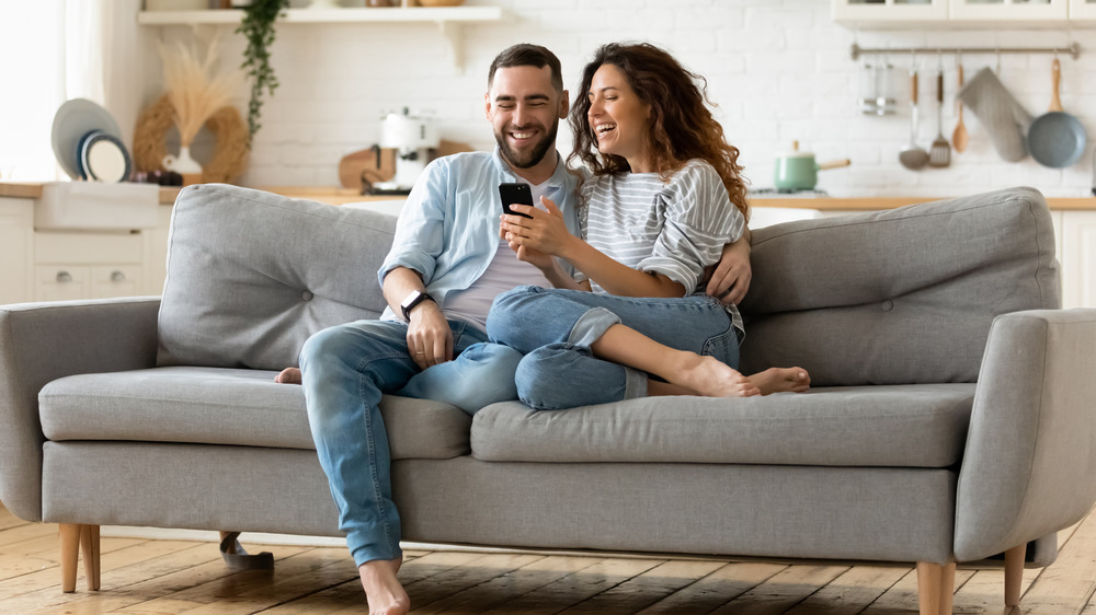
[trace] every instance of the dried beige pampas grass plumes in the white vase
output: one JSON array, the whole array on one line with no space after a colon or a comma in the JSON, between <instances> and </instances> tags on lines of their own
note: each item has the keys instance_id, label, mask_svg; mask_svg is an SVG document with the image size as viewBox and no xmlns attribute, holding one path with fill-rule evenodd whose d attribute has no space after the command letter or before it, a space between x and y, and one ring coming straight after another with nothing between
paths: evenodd
<instances>
[{"instance_id":1,"label":"dried beige pampas grass plumes in the white vase","mask_svg":"<svg viewBox=\"0 0 1096 615\"><path fill-rule=\"evenodd\" d=\"M219 71L215 66L218 39L209 43L205 59L193 47L176 43L173 48L160 44L167 96L174 109L180 141L189 147L202 126L232 101L244 83L243 71Z\"/></svg>"}]
</instances>

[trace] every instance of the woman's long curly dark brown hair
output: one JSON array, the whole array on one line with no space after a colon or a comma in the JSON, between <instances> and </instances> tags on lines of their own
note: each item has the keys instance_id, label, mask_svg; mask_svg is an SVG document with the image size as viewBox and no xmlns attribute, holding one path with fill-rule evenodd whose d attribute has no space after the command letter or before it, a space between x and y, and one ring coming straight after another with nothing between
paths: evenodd
<instances>
[{"instance_id":1,"label":"woman's long curly dark brown hair","mask_svg":"<svg viewBox=\"0 0 1096 615\"><path fill-rule=\"evenodd\" d=\"M719 173L742 214L749 219L746 186L738 163L739 149L727 142L723 127L712 117L708 105L707 81L689 72L669 53L647 43L603 45L582 72L582 85L569 121L574 134L574 148L568 156L572 163L581 160L595 175L631 171L623 156L601 154L597 137L590 125L590 84L602 65L613 65L624 72L628 84L640 101L651 105L650 130L646 138L651 149L651 163L662 170L663 179L685 166L692 159L701 159Z\"/></svg>"}]
</instances>

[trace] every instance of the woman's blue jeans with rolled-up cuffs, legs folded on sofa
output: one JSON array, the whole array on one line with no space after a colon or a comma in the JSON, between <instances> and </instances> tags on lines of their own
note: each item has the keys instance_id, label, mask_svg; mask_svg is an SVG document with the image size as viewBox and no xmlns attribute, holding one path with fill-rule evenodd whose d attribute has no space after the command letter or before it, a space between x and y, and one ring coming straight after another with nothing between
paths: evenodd
<instances>
[{"instance_id":1,"label":"woman's blue jeans with rolled-up cuffs, legs folded on sofa","mask_svg":"<svg viewBox=\"0 0 1096 615\"><path fill-rule=\"evenodd\" d=\"M675 348L739 364L739 337L717 299L636 298L579 290L517 287L491 306L491 341L525 357L517 394L538 410L606 404L647 395L648 374L593 356L590 347L615 324Z\"/></svg>"}]
</instances>

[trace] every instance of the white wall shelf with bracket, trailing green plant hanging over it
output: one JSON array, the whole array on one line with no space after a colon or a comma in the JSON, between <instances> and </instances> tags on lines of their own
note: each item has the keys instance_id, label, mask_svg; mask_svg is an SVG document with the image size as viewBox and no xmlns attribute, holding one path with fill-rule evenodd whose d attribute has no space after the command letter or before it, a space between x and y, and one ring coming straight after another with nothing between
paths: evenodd
<instances>
[{"instance_id":1,"label":"white wall shelf with bracket, trailing green plant hanging over it","mask_svg":"<svg viewBox=\"0 0 1096 615\"><path fill-rule=\"evenodd\" d=\"M464 34L461 26L468 23L490 23L507 19L499 7L398 7L390 9L346 8L346 9L286 9L279 16L279 24L370 24L370 23L434 23L449 48L449 58L457 72L464 70ZM236 25L243 11L220 9L212 11L140 11L137 23L149 26L165 25Z\"/></svg>"}]
</instances>

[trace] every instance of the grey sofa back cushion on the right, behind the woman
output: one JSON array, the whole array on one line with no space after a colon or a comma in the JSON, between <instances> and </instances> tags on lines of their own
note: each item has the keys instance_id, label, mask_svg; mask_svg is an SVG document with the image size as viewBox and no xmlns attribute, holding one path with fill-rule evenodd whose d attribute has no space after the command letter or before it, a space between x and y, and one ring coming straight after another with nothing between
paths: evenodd
<instances>
[{"instance_id":1,"label":"grey sofa back cushion on the right, behind the woman","mask_svg":"<svg viewBox=\"0 0 1096 615\"><path fill-rule=\"evenodd\" d=\"M975 382L995 316L1061 304L1050 211L1032 188L778 224L752 244L745 373Z\"/></svg>"}]
</instances>

